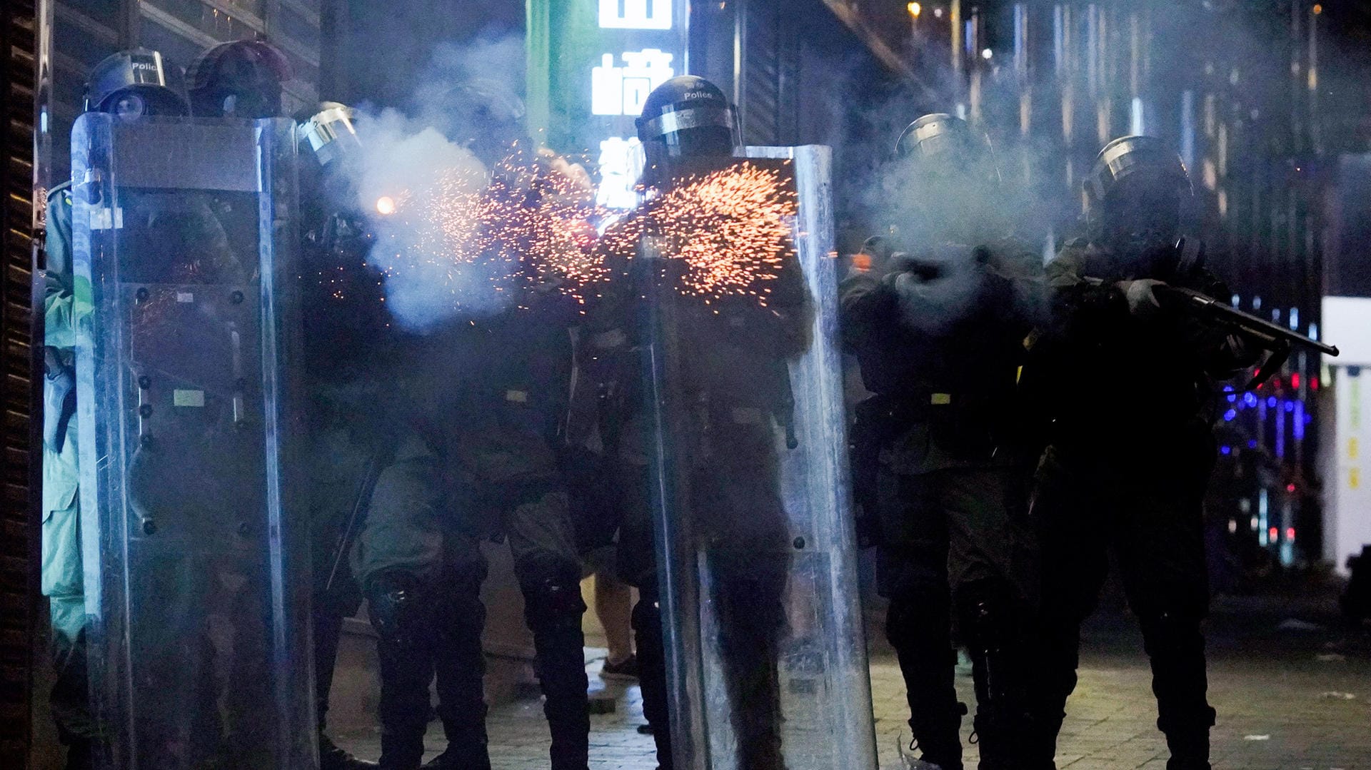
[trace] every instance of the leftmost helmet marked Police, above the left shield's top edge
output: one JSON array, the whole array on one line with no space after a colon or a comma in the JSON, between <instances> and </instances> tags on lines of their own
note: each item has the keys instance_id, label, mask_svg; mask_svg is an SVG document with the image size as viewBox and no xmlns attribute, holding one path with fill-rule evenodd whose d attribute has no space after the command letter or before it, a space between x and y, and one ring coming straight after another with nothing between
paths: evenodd
<instances>
[{"instance_id":1,"label":"leftmost helmet marked Police, above the left shield's top edge","mask_svg":"<svg viewBox=\"0 0 1371 770\"><path fill-rule=\"evenodd\" d=\"M130 118L186 115L189 103L175 64L156 51L133 48L106 56L90 70L85 110Z\"/></svg>"}]
</instances>

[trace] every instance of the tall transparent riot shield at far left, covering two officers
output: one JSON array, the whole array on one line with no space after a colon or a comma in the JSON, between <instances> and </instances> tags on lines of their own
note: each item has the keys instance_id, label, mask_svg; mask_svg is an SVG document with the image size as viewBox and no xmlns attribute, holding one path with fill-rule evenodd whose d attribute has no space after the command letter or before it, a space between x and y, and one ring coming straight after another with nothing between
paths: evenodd
<instances>
[{"instance_id":1,"label":"tall transparent riot shield at far left, covering two officers","mask_svg":"<svg viewBox=\"0 0 1371 770\"><path fill-rule=\"evenodd\" d=\"M73 130L90 693L118 769L315 767L289 121Z\"/></svg>"}]
</instances>

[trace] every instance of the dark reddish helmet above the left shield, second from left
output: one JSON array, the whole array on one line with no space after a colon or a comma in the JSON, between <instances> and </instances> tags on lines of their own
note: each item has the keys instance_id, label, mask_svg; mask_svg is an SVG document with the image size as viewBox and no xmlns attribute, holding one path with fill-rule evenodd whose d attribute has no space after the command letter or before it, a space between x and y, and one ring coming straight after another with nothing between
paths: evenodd
<instances>
[{"instance_id":1,"label":"dark reddish helmet above the left shield, second from left","mask_svg":"<svg viewBox=\"0 0 1371 770\"><path fill-rule=\"evenodd\" d=\"M186 79L191 112L197 118L276 118L291 63L269 42L234 40L200 53Z\"/></svg>"}]
</instances>

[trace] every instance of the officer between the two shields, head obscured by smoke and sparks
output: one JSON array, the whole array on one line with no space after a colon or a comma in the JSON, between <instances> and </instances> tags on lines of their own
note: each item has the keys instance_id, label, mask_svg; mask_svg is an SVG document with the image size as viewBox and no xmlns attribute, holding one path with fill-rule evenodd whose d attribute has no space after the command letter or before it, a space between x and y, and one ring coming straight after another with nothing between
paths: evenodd
<instances>
[{"instance_id":1,"label":"officer between the two shields, head obscured by smoke and sparks","mask_svg":"<svg viewBox=\"0 0 1371 770\"><path fill-rule=\"evenodd\" d=\"M531 216L565 179L554 179L554 164L521 138L522 105L517 99L494 99L488 89L459 88L457 97L489 100L485 108L470 110L480 125L444 126L454 140L472 140L470 149L489 166L487 203L511 218ZM474 548L485 537L506 540L513 554L546 696L551 767L584 770L588 763L585 604L557 452L570 389L569 327L580 319L580 303L562 290L557 266L535 253L518 222L505 225L513 226L488 233L491 251L499 253L481 255L492 256L507 282L503 307L459 308L447 325L407 343L402 366L421 385L406 400L417 407L403 421L409 437L400 443L395 470L377 482L359 541L358 575L369 606L380 608L373 623L383 637L383 767L407 767L411 754L422 752L426 682L435 665L448 752L433 766L488 763L485 708L478 704L484 621L478 589L485 564ZM496 304L483 299L483 307ZM433 543L441 545L430 554ZM435 612L440 618L430 622L436 630L429 636L406 630L422 622L409 617ZM446 648L414 652L433 645ZM424 655L436 658L424 663ZM399 682L396 692L403 686L406 695L388 695L388 681ZM388 748L392 723L414 736L404 740L415 748L403 754Z\"/></svg>"}]
</instances>

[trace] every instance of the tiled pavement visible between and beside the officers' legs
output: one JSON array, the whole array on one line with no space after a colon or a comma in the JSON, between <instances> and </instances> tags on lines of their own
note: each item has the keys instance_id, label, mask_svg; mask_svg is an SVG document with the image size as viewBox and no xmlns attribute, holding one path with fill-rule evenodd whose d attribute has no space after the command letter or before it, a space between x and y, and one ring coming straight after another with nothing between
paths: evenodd
<instances>
[{"instance_id":1,"label":"tiled pavement visible between and beside the officers' legs","mask_svg":"<svg viewBox=\"0 0 1371 770\"><path fill-rule=\"evenodd\" d=\"M1211 700L1219 711L1213 732L1216 770L1371 770L1371 643L1320 618L1319 628L1282 617L1260 603L1220 603L1211 630ZM1071 770L1165 767L1165 743L1156 730L1150 674L1141 641L1124 614L1102 611L1084 633L1080 684L1068 704L1057 765ZM598 671L599 662L590 670ZM880 770L901 770L908 740L899 671L888 652L872 658L872 692ZM592 686L603 686L592 675ZM962 700L971 680L958 673ZM592 770L651 770L651 737L636 686L609 685L613 714L592 717ZM537 700L492 710L491 756L498 769L546 767L547 726ZM341 736L363 756L376 756L374 736ZM437 725L429 745L441 743ZM436 754L436 751L435 751ZM968 749L975 767L975 747ZM799 770L799 769L795 769Z\"/></svg>"}]
</instances>

